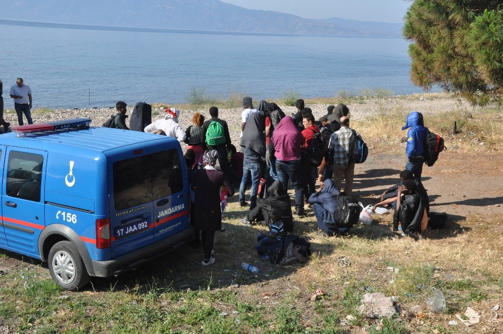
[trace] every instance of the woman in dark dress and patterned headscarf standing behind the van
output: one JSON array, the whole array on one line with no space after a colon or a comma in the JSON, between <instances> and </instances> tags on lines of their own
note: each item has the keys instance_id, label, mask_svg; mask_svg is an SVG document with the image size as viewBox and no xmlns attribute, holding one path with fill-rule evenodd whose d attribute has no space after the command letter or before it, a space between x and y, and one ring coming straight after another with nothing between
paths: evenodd
<instances>
[{"instance_id":1,"label":"woman in dark dress and patterned headscarf standing behind the van","mask_svg":"<svg viewBox=\"0 0 503 334\"><path fill-rule=\"evenodd\" d=\"M215 231L222 229L220 191L225 187L228 197L234 195L234 190L225 174L215 169L217 159L216 150L204 152L204 168L196 171L191 184L194 192L193 224L196 230L202 231L204 254L201 266L203 267L215 263L215 258L212 258Z\"/></svg>"}]
</instances>

